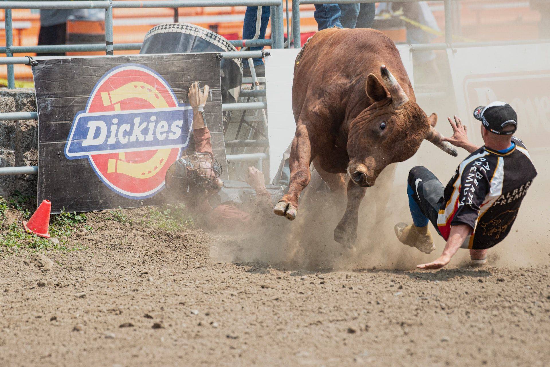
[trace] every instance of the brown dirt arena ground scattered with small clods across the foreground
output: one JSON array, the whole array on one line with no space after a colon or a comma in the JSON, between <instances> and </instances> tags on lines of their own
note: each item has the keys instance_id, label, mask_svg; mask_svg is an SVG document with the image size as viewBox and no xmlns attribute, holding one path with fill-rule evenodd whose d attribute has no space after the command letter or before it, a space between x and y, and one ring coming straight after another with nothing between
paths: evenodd
<instances>
[{"instance_id":1,"label":"brown dirt arena ground scattered with small clods across the foreground","mask_svg":"<svg viewBox=\"0 0 550 367\"><path fill-rule=\"evenodd\" d=\"M548 265L268 265L239 237L106 217L70 237L83 251L2 251L0 365L550 365Z\"/></svg>"}]
</instances>

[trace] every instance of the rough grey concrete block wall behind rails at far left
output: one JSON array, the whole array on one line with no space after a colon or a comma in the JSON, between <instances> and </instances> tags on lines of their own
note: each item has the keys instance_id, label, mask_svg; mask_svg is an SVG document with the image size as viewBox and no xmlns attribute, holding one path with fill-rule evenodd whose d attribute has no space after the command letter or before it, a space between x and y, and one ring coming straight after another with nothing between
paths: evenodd
<instances>
[{"instance_id":1,"label":"rough grey concrete block wall behind rails at far left","mask_svg":"<svg viewBox=\"0 0 550 367\"><path fill-rule=\"evenodd\" d=\"M0 89L0 112L36 111L34 89ZM0 166L38 164L38 121L0 121ZM0 195L36 196L37 175L0 176Z\"/></svg>"}]
</instances>

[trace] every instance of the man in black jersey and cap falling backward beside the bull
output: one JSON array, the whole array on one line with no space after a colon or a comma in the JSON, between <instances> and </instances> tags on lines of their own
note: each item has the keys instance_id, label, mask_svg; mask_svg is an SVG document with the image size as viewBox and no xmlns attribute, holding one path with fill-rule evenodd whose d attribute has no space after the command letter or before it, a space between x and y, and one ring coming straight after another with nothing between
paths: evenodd
<instances>
[{"instance_id":1,"label":"man in black jersey and cap falling backward beside the bull","mask_svg":"<svg viewBox=\"0 0 550 367\"><path fill-rule=\"evenodd\" d=\"M398 223L395 234L402 243L431 253L436 247L428 229L431 221L447 244L434 262L418 265L439 269L447 265L459 248L470 249L474 264L484 264L487 249L511 230L527 188L537 175L525 145L512 136L518 116L509 104L493 102L474 110L482 121L485 145L477 147L467 138L460 119L449 119L453 136L444 138L470 155L456 169L444 187L428 169L411 169L408 180L412 224Z\"/></svg>"}]
</instances>

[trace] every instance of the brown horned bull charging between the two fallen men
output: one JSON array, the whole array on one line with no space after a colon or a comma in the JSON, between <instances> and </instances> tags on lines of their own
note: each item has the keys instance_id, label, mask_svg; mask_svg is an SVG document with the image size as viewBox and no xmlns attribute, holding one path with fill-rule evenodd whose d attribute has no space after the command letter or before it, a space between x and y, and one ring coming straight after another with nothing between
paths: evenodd
<instances>
[{"instance_id":1,"label":"brown horned bull charging between the two fallen men","mask_svg":"<svg viewBox=\"0 0 550 367\"><path fill-rule=\"evenodd\" d=\"M312 161L333 190L348 173L348 205L334 240L351 246L366 187L384 167L412 157L424 139L456 156L434 129L437 115L428 117L415 101L399 52L381 32L333 28L313 36L294 66L290 187L275 214L296 217Z\"/></svg>"}]
</instances>

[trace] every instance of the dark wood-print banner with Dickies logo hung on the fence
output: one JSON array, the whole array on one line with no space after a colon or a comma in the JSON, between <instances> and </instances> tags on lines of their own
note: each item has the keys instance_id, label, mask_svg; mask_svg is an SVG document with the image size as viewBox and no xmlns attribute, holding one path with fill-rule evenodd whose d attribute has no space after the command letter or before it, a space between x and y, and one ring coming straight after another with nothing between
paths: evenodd
<instances>
[{"instance_id":1,"label":"dark wood-print banner with Dickies logo hung on the fence","mask_svg":"<svg viewBox=\"0 0 550 367\"><path fill-rule=\"evenodd\" d=\"M164 176L194 149L195 81L210 87L205 119L225 162L219 66L216 53L38 60L38 203L54 213L173 203Z\"/></svg>"}]
</instances>

